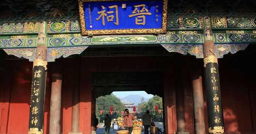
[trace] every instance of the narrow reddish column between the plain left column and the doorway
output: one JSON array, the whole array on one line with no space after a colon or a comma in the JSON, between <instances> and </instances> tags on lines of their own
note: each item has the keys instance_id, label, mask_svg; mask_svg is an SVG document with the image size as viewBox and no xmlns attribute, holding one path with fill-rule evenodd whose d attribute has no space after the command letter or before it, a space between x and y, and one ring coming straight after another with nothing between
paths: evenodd
<instances>
[{"instance_id":1,"label":"narrow reddish column between the plain left column and the doorway","mask_svg":"<svg viewBox=\"0 0 256 134\"><path fill-rule=\"evenodd\" d=\"M77 65L72 67L74 69L74 88L72 90L72 130L69 134L82 134L79 132L79 102L80 102L80 60L75 62Z\"/></svg>"}]
</instances>

